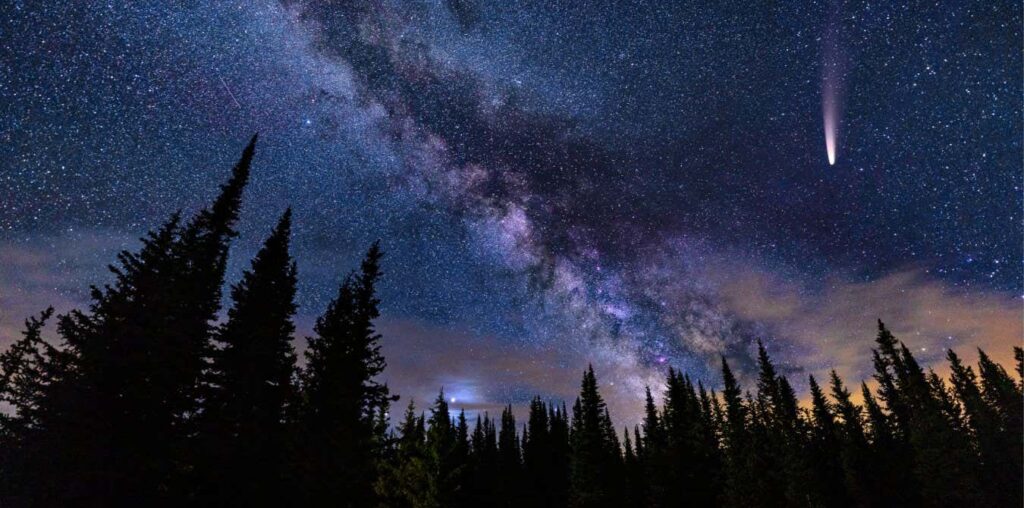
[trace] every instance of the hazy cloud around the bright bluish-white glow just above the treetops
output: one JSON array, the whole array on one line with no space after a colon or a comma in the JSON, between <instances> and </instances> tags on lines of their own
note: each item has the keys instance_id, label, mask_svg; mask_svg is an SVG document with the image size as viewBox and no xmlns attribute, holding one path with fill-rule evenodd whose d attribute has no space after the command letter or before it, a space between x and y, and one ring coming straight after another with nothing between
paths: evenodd
<instances>
[{"instance_id":1,"label":"hazy cloud around the bright bluish-white glow just above the treetops","mask_svg":"<svg viewBox=\"0 0 1024 508\"><path fill-rule=\"evenodd\" d=\"M638 369L633 355L607 347L581 351L556 342L512 345L466 329L445 328L412 320L382 321L383 352L388 369L383 379L401 395L399 406L415 399L429 407L444 388L452 406L468 415L500 413L512 404L525 418L530 398L572 406L588 365L593 365L601 392L620 424L639 422L643 389L660 386L662 374ZM396 411L392 411L396 413Z\"/></svg>"}]
</instances>

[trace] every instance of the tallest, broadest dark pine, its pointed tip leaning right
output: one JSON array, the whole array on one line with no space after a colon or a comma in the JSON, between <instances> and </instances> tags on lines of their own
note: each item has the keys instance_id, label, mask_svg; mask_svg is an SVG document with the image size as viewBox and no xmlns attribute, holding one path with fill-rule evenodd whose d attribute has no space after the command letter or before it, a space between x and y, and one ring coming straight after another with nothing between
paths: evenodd
<instances>
[{"instance_id":1,"label":"tallest, broadest dark pine, its pointed tip leaning right","mask_svg":"<svg viewBox=\"0 0 1024 508\"><path fill-rule=\"evenodd\" d=\"M111 266L88 312L60 316L72 375L55 388L39 457L58 504L178 504L199 389L256 136L214 203L175 214Z\"/></svg>"}]
</instances>

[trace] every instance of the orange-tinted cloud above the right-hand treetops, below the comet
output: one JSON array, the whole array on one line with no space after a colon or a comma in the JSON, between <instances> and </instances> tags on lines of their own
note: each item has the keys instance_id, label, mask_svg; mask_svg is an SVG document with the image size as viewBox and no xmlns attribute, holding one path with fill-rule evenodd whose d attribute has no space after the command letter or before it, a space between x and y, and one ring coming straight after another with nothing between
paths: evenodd
<instances>
[{"instance_id":1,"label":"orange-tinted cloud above the right-hand treetops, below the comet","mask_svg":"<svg viewBox=\"0 0 1024 508\"><path fill-rule=\"evenodd\" d=\"M958 289L920 268L868 281L831 278L819 285L748 268L734 269L721 283L720 294L736 315L784 338L780 348L799 351L785 356L819 379L829 369L849 382L870 376L879 319L940 374L946 373L950 348L974 361L980 347L1012 365L1012 348L1024 337L1016 295Z\"/></svg>"}]
</instances>

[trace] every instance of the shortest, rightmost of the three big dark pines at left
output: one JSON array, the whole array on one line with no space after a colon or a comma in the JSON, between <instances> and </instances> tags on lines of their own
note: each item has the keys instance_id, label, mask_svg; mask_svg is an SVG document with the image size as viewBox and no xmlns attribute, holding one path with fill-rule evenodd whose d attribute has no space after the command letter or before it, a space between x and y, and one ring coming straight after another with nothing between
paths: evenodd
<instances>
[{"instance_id":1,"label":"shortest, rightmost of the three big dark pines at left","mask_svg":"<svg viewBox=\"0 0 1024 508\"><path fill-rule=\"evenodd\" d=\"M376 504L375 465L380 452L374 415L390 398L376 381L384 371L377 284L378 244L367 252L358 273L350 274L316 321L302 373L300 467L302 492L310 506L361 507Z\"/></svg>"}]
</instances>

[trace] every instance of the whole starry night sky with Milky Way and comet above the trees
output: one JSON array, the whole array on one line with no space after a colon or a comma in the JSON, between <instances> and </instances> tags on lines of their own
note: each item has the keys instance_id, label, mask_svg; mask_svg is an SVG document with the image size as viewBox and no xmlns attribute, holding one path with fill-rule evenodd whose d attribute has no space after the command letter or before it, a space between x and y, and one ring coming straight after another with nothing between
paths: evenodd
<instances>
[{"instance_id":1,"label":"whole starry night sky with Milky Way and comet above the trees","mask_svg":"<svg viewBox=\"0 0 1024 508\"><path fill-rule=\"evenodd\" d=\"M260 133L229 281L294 207L300 330L376 239L387 381L613 417L1021 342L1020 2L0 5L0 343L83 305ZM826 156L834 136L835 165ZM301 347L301 341L297 344ZM401 403L404 404L404 403Z\"/></svg>"}]
</instances>

